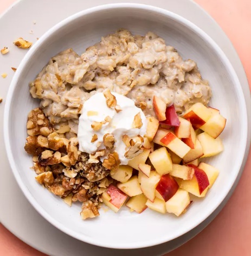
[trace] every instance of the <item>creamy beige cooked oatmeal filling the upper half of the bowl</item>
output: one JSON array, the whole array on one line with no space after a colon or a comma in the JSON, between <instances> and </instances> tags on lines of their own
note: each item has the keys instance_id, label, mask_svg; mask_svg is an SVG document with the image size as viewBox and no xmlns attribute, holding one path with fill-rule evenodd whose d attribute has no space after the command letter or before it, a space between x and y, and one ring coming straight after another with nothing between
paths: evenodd
<instances>
[{"instance_id":1,"label":"creamy beige cooked oatmeal filling the upper half of the bowl","mask_svg":"<svg viewBox=\"0 0 251 256\"><path fill-rule=\"evenodd\" d=\"M110 89L131 98L144 114L155 116L156 95L183 114L192 104L207 104L211 90L192 60L183 60L175 48L152 32L133 36L124 29L107 35L79 56L67 49L30 83L30 93L56 129L78 131L83 102Z\"/></svg>"}]
</instances>

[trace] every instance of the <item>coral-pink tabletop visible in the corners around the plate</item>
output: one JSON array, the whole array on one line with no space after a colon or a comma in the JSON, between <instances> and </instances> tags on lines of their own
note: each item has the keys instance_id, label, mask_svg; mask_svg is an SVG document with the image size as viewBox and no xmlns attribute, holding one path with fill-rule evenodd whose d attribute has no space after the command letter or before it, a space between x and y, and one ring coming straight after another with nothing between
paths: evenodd
<instances>
[{"instance_id":1,"label":"coral-pink tabletop visible in the corners around the plate","mask_svg":"<svg viewBox=\"0 0 251 256\"><path fill-rule=\"evenodd\" d=\"M1 1L0 14L14 0ZM196 0L220 24L233 42L246 70L251 88L251 1ZM251 255L251 152L241 180L226 207L194 239L165 256ZM26 245L0 224L0 255L45 255Z\"/></svg>"}]
</instances>

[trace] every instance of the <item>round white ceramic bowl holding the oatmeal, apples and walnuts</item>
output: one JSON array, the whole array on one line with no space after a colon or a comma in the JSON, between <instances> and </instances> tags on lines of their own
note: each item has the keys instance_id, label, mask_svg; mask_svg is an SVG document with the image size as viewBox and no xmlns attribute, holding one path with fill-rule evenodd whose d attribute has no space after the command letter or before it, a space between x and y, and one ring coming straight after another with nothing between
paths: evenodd
<instances>
[{"instance_id":1,"label":"round white ceramic bowl holding the oatmeal, apples and walnuts","mask_svg":"<svg viewBox=\"0 0 251 256\"><path fill-rule=\"evenodd\" d=\"M208 163L220 169L207 196L194 202L180 217L145 210L118 214L100 210L100 217L82 221L80 205L69 208L59 197L39 185L30 170L31 157L23 146L28 112L38 105L29 95L33 80L50 57L72 47L82 53L118 28L134 34L158 34L185 59L195 60L213 90L210 105L227 118L221 135L224 152ZM81 11L50 29L25 55L10 85L4 113L5 146L18 185L46 220L76 239L110 248L140 248L177 238L205 220L227 196L240 171L247 141L247 112L241 85L229 60L201 29L181 16L141 4L111 4ZM17 195L18 196L18 195ZM18 214L18 209L17 209ZM22 221L22 220L20 220ZM27 227L29 228L29 227ZM39 230L37 230L39 232Z\"/></svg>"}]
</instances>

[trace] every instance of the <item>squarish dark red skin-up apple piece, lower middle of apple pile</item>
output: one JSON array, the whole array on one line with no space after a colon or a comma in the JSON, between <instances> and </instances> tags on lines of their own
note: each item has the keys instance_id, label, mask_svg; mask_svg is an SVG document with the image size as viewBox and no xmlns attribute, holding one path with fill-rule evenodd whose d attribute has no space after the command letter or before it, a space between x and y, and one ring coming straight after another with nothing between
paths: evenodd
<instances>
[{"instance_id":1,"label":"squarish dark red skin-up apple piece, lower middle of apple pile","mask_svg":"<svg viewBox=\"0 0 251 256\"><path fill-rule=\"evenodd\" d=\"M163 199L168 201L171 197L175 195L179 188L178 183L169 174L164 174L156 187L156 190L162 195Z\"/></svg>"}]
</instances>

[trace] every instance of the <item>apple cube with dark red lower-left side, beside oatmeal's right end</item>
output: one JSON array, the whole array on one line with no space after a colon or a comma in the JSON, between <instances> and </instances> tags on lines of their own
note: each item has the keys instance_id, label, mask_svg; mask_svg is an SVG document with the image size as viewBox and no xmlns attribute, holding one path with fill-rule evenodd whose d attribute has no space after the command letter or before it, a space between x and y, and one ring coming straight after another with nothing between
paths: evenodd
<instances>
[{"instance_id":1,"label":"apple cube with dark red lower-left side, beside oatmeal's right end","mask_svg":"<svg viewBox=\"0 0 251 256\"><path fill-rule=\"evenodd\" d=\"M205 107L202 103L195 103L188 111L183 115L185 119L189 119L194 129L198 129L205 122L209 120L212 112Z\"/></svg>"}]
</instances>

